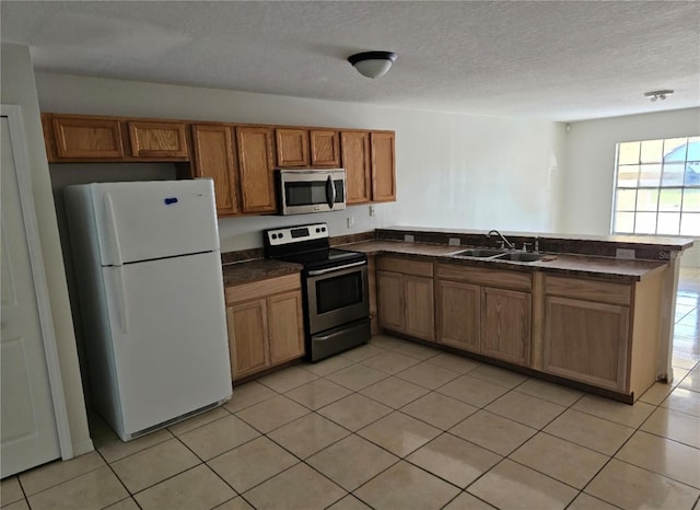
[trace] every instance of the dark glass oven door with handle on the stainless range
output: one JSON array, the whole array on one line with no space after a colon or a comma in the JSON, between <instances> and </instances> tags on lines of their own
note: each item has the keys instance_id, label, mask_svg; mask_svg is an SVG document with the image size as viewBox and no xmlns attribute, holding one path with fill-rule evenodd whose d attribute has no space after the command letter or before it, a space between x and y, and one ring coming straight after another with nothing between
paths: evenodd
<instances>
[{"instance_id":1,"label":"dark glass oven door with handle on the stainless range","mask_svg":"<svg viewBox=\"0 0 700 510\"><path fill-rule=\"evenodd\" d=\"M310 271L308 326L313 335L370 315L366 260Z\"/></svg>"}]
</instances>

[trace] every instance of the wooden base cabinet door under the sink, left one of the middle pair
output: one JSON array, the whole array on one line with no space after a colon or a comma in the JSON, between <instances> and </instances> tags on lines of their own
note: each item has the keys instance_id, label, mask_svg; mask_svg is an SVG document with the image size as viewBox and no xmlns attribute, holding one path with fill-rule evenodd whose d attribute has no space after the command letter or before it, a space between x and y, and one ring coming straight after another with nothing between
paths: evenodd
<instances>
[{"instance_id":1,"label":"wooden base cabinet door under the sink, left one of the middle pair","mask_svg":"<svg viewBox=\"0 0 700 510\"><path fill-rule=\"evenodd\" d=\"M481 288L438 280L438 341L479 352L481 344Z\"/></svg>"}]
</instances>

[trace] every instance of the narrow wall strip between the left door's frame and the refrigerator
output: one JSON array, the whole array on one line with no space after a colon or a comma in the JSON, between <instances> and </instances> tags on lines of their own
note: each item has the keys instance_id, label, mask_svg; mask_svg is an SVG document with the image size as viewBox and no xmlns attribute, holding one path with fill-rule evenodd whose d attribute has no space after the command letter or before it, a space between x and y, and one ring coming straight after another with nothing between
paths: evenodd
<instances>
[{"instance_id":1,"label":"narrow wall strip between the left door's frame and the refrigerator","mask_svg":"<svg viewBox=\"0 0 700 510\"><path fill-rule=\"evenodd\" d=\"M2 104L22 107L26 136L32 190L36 204L39 240L48 285L51 317L56 334L63 393L66 395L71 442L75 454L92 450L88 430L88 417L83 402L82 384L75 352L75 337L71 320L63 259L54 210L51 183L44 149L44 135L39 117L34 70L28 48L2 44L1 46Z\"/></svg>"}]
</instances>

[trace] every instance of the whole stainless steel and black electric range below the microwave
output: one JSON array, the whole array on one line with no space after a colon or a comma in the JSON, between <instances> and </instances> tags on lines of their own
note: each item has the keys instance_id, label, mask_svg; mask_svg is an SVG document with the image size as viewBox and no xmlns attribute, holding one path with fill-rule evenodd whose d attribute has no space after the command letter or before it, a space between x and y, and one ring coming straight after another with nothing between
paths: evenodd
<instances>
[{"instance_id":1,"label":"whole stainless steel and black electric range below the microwave","mask_svg":"<svg viewBox=\"0 0 700 510\"><path fill-rule=\"evenodd\" d=\"M265 256L302 264L306 357L312 361L366 343L368 257L330 247L326 223L266 230Z\"/></svg>"}]
</instances>

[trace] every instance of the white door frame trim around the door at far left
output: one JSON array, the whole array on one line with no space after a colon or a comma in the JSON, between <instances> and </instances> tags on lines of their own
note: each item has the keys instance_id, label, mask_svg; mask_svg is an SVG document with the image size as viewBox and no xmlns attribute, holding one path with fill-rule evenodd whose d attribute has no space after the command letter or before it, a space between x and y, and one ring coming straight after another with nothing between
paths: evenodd
<instances>
[{"instance_id":1,"label":"white door frame trim around the door at far left","mask_svg":"<svg viewBox=\"0 0 700 510\"><path fill-rule=\"evenodd\" d=\"M20 193L20 204L22 208L22 219L24 220L24 233L30 252L30 265L32 267L32 279L34 292L36 294L36 305L39 316L39 328L44 343L46 356L46 367L51 391L51 402L54 404L54 415L56 417L56 428L58 432L58 443L61 459L68 460L73 456L73 445L70 436L70 425L68 421L68 408L66 395L63 393L63 380L61 376L58 347L56 345L56 331L54 329L54 318L51 316L51 304L48 295L48 283L44 268L44 254L39 239L38 221L34 206L34 193L32 190L31 167L26 147L26 135L22 120L22 107L20 105L0 105L0 115L8 117L10 146L14 159L14 172L18 179Z\"/></svg>"}]
</instances>

